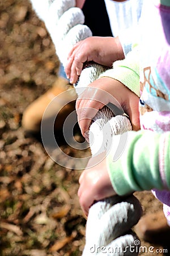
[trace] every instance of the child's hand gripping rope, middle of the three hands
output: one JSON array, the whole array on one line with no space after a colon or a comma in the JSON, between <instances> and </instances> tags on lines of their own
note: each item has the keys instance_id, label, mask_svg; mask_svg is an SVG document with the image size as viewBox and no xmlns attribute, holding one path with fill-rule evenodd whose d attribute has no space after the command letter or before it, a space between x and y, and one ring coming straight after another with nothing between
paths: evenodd
<instances>
[{"instance_id":1,"label":"child's hand gripping rope, middle of the three hands","mask_svg":"<svg viewBox=\"0 0 170 256\"><path fill-rule=\"evenodd\" d=\"M89 130L92 118L97 111L111 102L122 107L129 115L133 130L139 130L139 98L121 82L103 77L92 82L76 100L76 113L82 135Z\"/></svg>"}]
</instances>

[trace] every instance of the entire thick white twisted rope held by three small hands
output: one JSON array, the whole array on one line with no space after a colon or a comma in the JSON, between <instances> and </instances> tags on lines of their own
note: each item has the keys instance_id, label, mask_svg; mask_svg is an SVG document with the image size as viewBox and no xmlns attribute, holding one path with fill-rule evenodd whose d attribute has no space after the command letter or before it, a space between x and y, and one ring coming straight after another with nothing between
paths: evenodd
<instances>
[{"instance_id":1,"label":"entire thick white twisted rope held by three small hands","mask_svg":"<svg viewBox=\"0 0 170 256\"><path fill-rule=\"evenodd\" d=\"M56 53L65 66L67 55L71 47L80 40L92 36L90 28L84 25L82 10L75 7L75 0L31 0L39 18L41 18L56 47ZM88 65L83 69L75 85L78 94L88 84L96 80L105 68L98 64ZM92 155L96 153L95 142L101 144L100 152L107 150L108 142L115 134L131 130L129 119L125 115L114 115L105 106L99 111L90 126L90 146ZM97 131L97 132L96 132ZM92 136L93 135L93 136ZM101 141L101 135L103 140ZM93 139L92 139L93 137ZM92 142L93 141L93 142ZM131 250L137 246L137 236L131 228L137 224L142 209L134 196L122 198L113 196L101 200L90 208L86 226L86 245L83 256L89 255L138 255L138 250Z\"/></svg>"}]
</instances>

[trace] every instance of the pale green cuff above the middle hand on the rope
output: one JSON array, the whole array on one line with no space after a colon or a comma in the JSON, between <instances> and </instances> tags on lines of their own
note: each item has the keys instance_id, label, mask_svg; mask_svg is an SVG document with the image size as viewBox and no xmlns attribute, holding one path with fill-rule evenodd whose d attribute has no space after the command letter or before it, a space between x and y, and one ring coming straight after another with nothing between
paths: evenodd
<instances>
[{"instance_id":1,"label":"pale green cuff above the middle hand on the rope","mask_svg":"<svg viewBox=\"0 0 170 256\"><path fill-rule=\"evenodd\" d=\"M113 63L113 68L108 69L100 75L101 77L111 77L127 86L132 92L140 96L139 84L139 52L135 47L126 55L124 60L118 60Z\"/></svg>"}]
</instances>

